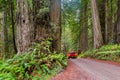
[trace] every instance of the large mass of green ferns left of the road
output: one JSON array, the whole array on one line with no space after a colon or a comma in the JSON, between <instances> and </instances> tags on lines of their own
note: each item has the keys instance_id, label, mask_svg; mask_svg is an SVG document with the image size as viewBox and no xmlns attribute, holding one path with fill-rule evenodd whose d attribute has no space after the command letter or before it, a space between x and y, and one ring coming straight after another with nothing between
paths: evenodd
<instances>
[{"instance_id":1,"label":"large mass of green ferns left of the road","mask_svg":"<svg viewBox=\"0 0 120 80\"><path fill-rule=\"evenodd\" d=\"M66 64L66 56L50 51L51 43L34 44L30 52L0 61L0 80L48 80Z\"/></svg>"}]
</instances>

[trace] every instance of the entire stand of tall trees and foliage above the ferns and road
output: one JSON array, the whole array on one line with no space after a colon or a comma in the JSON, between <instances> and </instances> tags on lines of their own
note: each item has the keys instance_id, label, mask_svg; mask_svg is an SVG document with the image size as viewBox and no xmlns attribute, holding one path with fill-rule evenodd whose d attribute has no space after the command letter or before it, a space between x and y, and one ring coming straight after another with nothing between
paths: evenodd
<instances>
[{"instance_id":1,"label":"entire stand of tall trees and foliage above the ferns and road","mask_svg":"<svg viewBox=\"0 0 120 80\"><path fill-rule=\"evenodd\" d=\"M47 37L52 38L51 50L58 52L60 49L82 52L120 42L119 0L0 0L0 3L1 54L25 52L31 43Z\"/></svg>"}]
</instances>

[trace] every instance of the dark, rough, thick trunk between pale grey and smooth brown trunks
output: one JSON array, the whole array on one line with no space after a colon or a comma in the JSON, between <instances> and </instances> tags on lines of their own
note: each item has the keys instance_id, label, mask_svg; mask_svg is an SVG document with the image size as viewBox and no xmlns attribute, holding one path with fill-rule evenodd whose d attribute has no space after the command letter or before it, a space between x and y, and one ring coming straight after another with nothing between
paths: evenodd
<instances>
[{"instance_id":1,"label":"dark, rough, thick trunk between pale grey and smooth brown trunks","mask_svg":"<svg viewBox=\"0 0 120 80\"><path fill-rule=\"evenodd\" d=\"M44 6L44 0L36 1L33 0L33 13L34 13L34 39L37 42L40 42L43 38L50 37L49 30L49 12L41 12L39 11ZM43 3L41 3L43 2Z\"/></svg>"}]
</instances>

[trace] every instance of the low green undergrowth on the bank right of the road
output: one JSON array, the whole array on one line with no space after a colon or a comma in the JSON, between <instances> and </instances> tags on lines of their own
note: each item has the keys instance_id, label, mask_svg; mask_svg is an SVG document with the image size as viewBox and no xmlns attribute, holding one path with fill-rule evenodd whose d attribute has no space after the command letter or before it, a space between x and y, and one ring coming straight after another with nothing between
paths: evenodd
<instances>
[{"instance_id":1,"label":"low green undergrowth on the bank right of the road","mask_svg":"<svg viewBox=\"0 0 120 80\"><path fill-rule=\"evenodd\" d=\"M80 54L79 57L90 57L120 62L120 45L104 45L97 50L88 50Z\"/></svg>"}]
</instances>

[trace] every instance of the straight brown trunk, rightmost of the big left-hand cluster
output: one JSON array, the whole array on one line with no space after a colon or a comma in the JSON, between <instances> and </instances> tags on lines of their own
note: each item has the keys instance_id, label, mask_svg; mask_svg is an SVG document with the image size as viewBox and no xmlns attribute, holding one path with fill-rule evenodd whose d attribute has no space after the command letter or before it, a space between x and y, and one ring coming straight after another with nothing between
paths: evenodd
<instances>
[{"instance_id":1,"label":"straight brown trunk, rightmost of the big left-hand cluster","mask_svg":"<svg viewBox=\"0 0 120 80\"><path fill-rule=\"evenodd\" d=\"M50 19L54 29L53 49L61 51L61 0L50 0Z\"/></svg>"}]
</instances>

